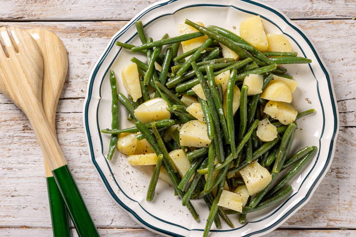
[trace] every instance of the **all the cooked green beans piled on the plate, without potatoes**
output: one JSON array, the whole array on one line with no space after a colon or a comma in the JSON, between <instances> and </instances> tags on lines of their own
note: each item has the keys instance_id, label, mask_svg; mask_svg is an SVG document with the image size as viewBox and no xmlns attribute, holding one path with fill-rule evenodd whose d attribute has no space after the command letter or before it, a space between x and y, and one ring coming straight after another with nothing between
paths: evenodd
<instances>
[{"instance_id":1,"label":"all the cooked green beans piled on the plate, without potatoes","mask_svg":"<svg viewBox=\"0 0 356 237\"><path fill-rule=\"evenodd\" d=\"M287 70L279 65L310 63L311 60L298 57L295 52L262 53L244 39L224 28L203 27L189 20L186 20L185 23L197 29L197 32L172 38L169 38L168 34L164 34L161 40L153 41L152 38L146 37L142 22L137 21L135 26L142 45L135 46L116 42L116 45L131 50L132 53L147 55L147 63L135 57L131 59L136 63L140 75L142 97L133 102L130 97L127 98L124 94L117 93L115 75L111 71L113 122L111 129L103 129L101 132L111 134L109 160L115 150L118 134L140 132L136 138L138 140L146 139L158 156L147 191L147 201L154 199L158 175L161 166L163 166L172 180L175 194L180 196L182 205L188 208L195 220L199 216L191 200L203 199L205 201L210 211L203 234L203 236L207 236L213 222L217 227L221 225L220 218L227 225L233 227L228 215L237 214L239 222L244 223L247 213L278 203L290 195L292 188L288 182L316 152L315 146L306 146L288 157L294 131L297 129L297 121L283 125L278 120L263 115L261 111L263 111L266 101L260 98L261 94L248 96L248 86L242 85L242 81L247 75L260 74L263 76L262 90L264 90L273 79L274 74L292 79L286 75ZM180 42L204 35L208 38L201 47L184 54L178 54ZM236 52L241 60L224 58L219 43ZM167 47L163 47L165 45ZM162 48L166 48L165 52L162 52ZM185 61L187 57L189 59ZM155 68L155 63L162 66L161 71ZM222 86L220 83L216 83L214 78L224 71L230 71L225 110ZM203 88L206 100L199 98L192 90L192 87L198 84ZM241 91L240 107L233 114L234 87L236 85ZM177 129L172 131L171 140L162 138L170 126L196 119L185 110L188 105L180 100L184 94L197 97L197 101L201 105L207 126L207 135L211 140L208 148L189 149L189 147L181 146ZM171 112L171 118L143 124L135 117L133 111L152 97L161 97L167 102L167 110ZM127 119L134 120L135 126L119 129L118 102L127 109ZM310 109L299 113L297 119L314 112L314 109ZM272 141L262 142L256 135L258 122L264 118L269 118L271 123L277 127L277 138ZM183 177L177 173L168 154L176 149L182 149L191 162L191 167ZM218 163L215 163L215 158ZM230 190L234 190L236 185L244 184L241 178L234 177L233 174L255 161L271 172L272 181L269 185L256 195L250 196L242 212L226 210L218 206L225 183ZM284 169L288 169L287 173L281 174ZM215 177L214 172L216 173Z\"/></svg>"}]
</instances>

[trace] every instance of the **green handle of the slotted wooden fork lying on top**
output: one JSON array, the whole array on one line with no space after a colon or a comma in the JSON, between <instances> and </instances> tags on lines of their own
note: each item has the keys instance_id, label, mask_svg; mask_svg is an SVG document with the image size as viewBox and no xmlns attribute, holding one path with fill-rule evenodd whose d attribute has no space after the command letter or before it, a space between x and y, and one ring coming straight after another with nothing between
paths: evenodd
<instances>
[{"instance_id":1,"label":"green handle of the slotted wooden fork lying on top","mask_svg":"<svg viewBox=\"0 0 356 237\"><path fill-rule=\"evenodd\" d=\"M54 169L52 174L61 191L78 236L99 237L98 229L91 219L68 165Z\"/></svg>"}]
</instances>

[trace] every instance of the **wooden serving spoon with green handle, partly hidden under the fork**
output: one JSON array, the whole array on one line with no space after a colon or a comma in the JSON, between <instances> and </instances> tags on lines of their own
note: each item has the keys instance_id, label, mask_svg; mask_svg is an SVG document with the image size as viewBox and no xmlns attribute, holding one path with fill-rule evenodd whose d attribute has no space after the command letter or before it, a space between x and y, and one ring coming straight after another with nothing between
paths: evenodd
<instances>
[{"instance_id":1,"label":"wooden serving spoon with green handle, partly hidden under the fork","mask_svg":"<svg viewBox=\"0 0 356 237\"><path fill-rule=\"evenodd\" d=\"M51 31L38 28L26 31L35 39L42 52L42 105L48 123L56 135L56 110L68 70L67 50L61 39ZM44 158L53 237L70 237L66 204L46 160Z\"/></svg>"}]
</instances>

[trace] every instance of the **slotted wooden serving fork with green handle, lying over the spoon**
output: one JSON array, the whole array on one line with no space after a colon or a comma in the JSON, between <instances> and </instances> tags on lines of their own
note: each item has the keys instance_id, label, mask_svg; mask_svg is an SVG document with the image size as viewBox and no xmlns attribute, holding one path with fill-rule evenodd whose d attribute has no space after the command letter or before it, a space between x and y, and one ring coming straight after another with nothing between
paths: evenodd
<instances>
[{"instance_id":1,"label":"slotted wooden serving fork with green handle, lying over the spoon","mask_svg":"<svg viewBox=\"0 0 356 237\"><path fill-rule=\"evenodd\" d=\"M9 32L0 27L0 91L27 115L78 235L99 236L43 111L41 50L26 31L9 27Z\"/></svg>"}]
</instances>

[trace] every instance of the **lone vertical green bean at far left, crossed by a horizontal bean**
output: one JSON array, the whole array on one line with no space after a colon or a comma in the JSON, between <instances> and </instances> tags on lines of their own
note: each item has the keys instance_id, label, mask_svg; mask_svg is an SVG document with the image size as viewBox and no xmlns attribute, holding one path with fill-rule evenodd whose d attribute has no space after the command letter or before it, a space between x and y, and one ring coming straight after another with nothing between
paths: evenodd
<instances>
[{"instance_id":1,"label":"lone vertical green bean at far left, crossed by a horizontal bean","mask_svg":"<svg viewBox=\"0 0 356 237\"><path fill-rule=\"evenodd\" d=\"M111 87L111 129L119 128L119 104L117 103L117 88L116 88L116 77L114 71L110 71L109 76L110 87ZM117 143L117 134L111 134L110 143L109 143L109 151L106 158L111 160L114 155Z\"/></svg>"}]
</instances>

